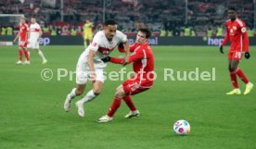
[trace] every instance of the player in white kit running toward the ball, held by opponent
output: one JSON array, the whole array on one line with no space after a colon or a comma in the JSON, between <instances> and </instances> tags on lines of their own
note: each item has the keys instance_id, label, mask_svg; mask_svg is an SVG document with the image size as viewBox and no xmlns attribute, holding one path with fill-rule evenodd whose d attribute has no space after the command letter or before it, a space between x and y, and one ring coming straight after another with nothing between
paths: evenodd
<instances>
[{"instance_id":1,"label":"player in white kit running toward the ball, held by opponent","mask_svg":"<svg viewBox=\"0 0 256 149\"><path fill-rule=\"evenodd\" d=\"M96 32L93 42L83 51L76 66L76 88L67 95L64 103L64 110L70 111L70 103L76 96L83 94L88 80L92 81L93 89L76 102L78 115L84 117L83 104L92 101L101 93L104 83L104 68L107 66L101 59L109 56L111 51L119 43L123 43L126 56L124 63L128 64L129 60L129 43L122 31L117 31L117 23L114 20L107 20L104 23L104 30Z\"/></svg>"}]
</instances>

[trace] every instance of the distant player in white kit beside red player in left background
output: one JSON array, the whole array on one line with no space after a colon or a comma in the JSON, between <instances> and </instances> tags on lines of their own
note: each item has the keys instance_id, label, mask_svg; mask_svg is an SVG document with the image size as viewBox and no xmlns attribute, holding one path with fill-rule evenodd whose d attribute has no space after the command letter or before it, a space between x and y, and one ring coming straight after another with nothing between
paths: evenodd
<instances>
[{"instance_id":1,"label":"distant player in white kit beside red player in left background","mask_svg":"<svg viewBox=\"0 0 256 149\"><path fill-rule=\"evenodd\" d=\"M30 31L29 31L29 45L28 48L34 49L39 56L43 59L43 64L47 63L43 52L39 48L39 39L43 32L40 25L36 22L35 18L31 19Z\"/></svg>"}]
</instances>

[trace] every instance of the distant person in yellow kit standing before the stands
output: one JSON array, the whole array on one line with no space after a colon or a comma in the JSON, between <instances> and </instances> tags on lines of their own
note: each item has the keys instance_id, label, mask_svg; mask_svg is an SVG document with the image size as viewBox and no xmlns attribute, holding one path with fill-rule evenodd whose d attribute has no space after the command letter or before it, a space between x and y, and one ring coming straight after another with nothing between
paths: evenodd
<instances>
[{"instance_id":1,"label":"distant person in yellow kit standing before the stands","mask_svg":"<svg viewBox=\"0 0 256 149\"><path fill-rule=\"evenodd\" d=\"M93 27L94 27L94 24L90 22L89 19L86 19L83 25L83 44L85 48L93 39Z\"/></svg>"}]
</instances>

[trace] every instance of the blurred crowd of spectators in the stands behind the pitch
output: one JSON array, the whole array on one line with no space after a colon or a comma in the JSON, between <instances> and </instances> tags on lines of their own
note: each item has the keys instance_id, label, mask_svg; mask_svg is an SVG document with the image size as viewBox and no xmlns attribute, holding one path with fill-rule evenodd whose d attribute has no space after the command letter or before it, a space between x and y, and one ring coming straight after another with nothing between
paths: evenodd
<instances>
[{"instance_id":1,"label":"blurred crowd of spectators in the stands behind the pitch","mask_svg":"<svg viewBox=\"0 0 256 149\"><path fill-rule=\"evenodd\" d=\"M127 34L147 27L155 36L224 36L229 6L237 8L253 36L255 0L1 0L0 14L33 16L45 35L81 35L86 19L96 32L104 20L115 19ZM0 25L1 35L18 29L8 21Z\"/></svg>"}]
</instances>

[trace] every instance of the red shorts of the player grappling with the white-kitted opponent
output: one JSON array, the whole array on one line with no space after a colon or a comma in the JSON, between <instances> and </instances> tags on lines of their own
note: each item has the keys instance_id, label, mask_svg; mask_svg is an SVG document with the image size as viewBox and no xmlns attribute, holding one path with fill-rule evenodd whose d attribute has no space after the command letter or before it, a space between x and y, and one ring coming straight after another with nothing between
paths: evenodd
<instances>
[{"instance_id":1,"label":"red shorts of the player grappling with the white-kitted opponent","mask_svg":"<svg viewBox=\"0 0 256 149\"><path fill-rule=\"evenodd\" d=\"M138 81L134 79L129 79L127 81L124 81L122 83L122 88L125 94L137 94L137 93L142 93L144 91L147 91L148 89L151 88L152 85L148 84L153 84L152 81Z\"/></svg>"}]
</instances>

